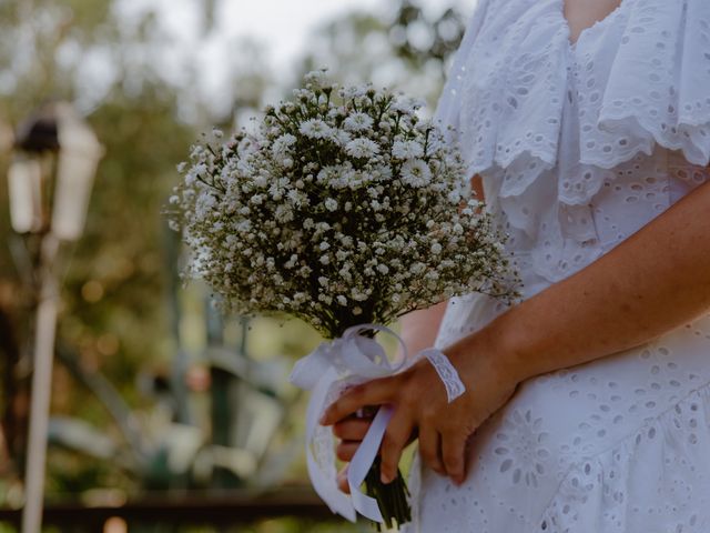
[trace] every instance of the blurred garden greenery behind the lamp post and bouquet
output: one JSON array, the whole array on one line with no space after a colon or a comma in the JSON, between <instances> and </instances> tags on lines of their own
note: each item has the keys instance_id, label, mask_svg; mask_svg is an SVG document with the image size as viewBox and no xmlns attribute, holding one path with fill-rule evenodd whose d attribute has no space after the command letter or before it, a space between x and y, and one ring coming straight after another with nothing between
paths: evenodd
<instances>
[{"instance_id":1,"label":"blurred garden greenery behind the lamp post and bouquet","mask_svg":"<svg viewBox=\"0 0 710 533\"><path fill-rule=\"evenodd\" d=\"M452 8L427 17L406 0L388 3L385 16L348 14L313 34L293 79L275 79L260 47L240 43L243 57L217 66L229 69L232 87L215 105L199 90L194 67L204 58L183 58L184 71L171 72L164 54L174 36L162 30L160 10L126 18L125 3L0 2L0 175L11 157L9 132L49 99L74 102L106 148L85 233L64 269L48 495L83 494L97 504L148 489L305 482L297 447L304 398L284 380L288 361L320 339L297 322L216 316L205 288L182 286L179 240L161 217L174 167L201 131L242 125L313 68L434 104L462 14ZM206 42L217 3L200 6L194 23ZM32 242L12 235L0 182L0 505L18 505L33 310L23 250ZM240 531L329 527L267 521Z\"/></svg>"}]
</instances>

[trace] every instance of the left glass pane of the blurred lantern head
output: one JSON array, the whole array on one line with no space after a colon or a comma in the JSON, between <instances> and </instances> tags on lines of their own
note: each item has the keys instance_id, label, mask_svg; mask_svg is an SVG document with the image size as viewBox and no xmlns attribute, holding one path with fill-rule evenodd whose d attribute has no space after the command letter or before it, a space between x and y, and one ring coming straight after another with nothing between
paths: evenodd
<instances>
[{"instance_id":1,"label":"left glass pane of the blurred lantern head","mask_svg":"<svg viewBox=\"0 0 710 533\"><path fill-rule=\"evenodd\" d=\"M8 169L10 223L18 233L42 229L42 165L38 158L18 153Z\"/></svg>"}]
</instances>

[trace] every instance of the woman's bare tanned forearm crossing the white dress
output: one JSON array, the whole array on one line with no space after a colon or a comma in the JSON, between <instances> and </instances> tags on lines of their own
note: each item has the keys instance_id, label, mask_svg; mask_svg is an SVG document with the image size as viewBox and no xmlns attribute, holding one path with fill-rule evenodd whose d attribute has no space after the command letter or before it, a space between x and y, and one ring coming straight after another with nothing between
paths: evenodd
<instances>
[{"instance_id":1,"label":"woman's bare tanned forearm crossing the white dress","mask_svg":"<svg viewBox=\"0 0 710 533\"><path fill-rule=\"evenodd\" d=\"M710 311L710 183L447 351L465 358L481 345L495 349L523 381L637 346L704 311Z\"/></svg>"}]
</instances>

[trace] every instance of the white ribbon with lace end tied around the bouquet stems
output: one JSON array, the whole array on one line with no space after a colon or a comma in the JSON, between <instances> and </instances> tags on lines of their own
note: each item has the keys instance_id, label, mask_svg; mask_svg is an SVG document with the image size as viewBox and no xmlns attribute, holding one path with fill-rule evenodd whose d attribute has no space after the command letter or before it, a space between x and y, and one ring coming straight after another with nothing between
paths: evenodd
<instances>
[{"instance_id":1,"label":"white ribbon with lace end tied around the bouquet stems","mask_svg":"<svg viewBox=\"0 0 710 533\"><path fill-rule=\"evenodd\" d=\"M377 341L361 335L363 331L381 331L395 336L402 346L403 356L390 362ZM374 522L383 522L377 501L363 494L359 487L377 456L394 411L388 405L379 408L353 456L347 470L349 496L337 487L333 433L329 428L322 426L318 420L346 386L394 375L412 366L422 356L432 362L442 378L449 402L465 392L456 369L439 350L425 350L409 359L399 335L377 324L349 328L342 338L322 343L311 354L298 360L291 373L291 383L312 391L306 412L306 461L313 487L331 511L351 522L355 522L357 513Z\"/></svg>"}]
</instances>

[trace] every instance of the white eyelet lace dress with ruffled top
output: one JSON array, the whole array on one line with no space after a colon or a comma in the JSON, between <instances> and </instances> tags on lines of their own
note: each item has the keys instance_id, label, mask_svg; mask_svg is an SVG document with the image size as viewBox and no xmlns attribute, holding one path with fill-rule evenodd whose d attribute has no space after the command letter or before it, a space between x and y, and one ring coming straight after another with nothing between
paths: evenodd
<instances>
[{"instance_id":1,"label":"white eyelet lace dress with ruffled top","mask_svg":"<svg viewBox=\"0 0 710 533\"><path fill-rule=\"evenodd\" d=\"M574 46L562 0L479 0L437 115L529 298L710 179L710 0L623 0ZM437 346L501 311L453 300ZM415 463L405 531L710 532L710 314L528 380L470 464L457 487Z\"/></svg>"}]
</instances>

